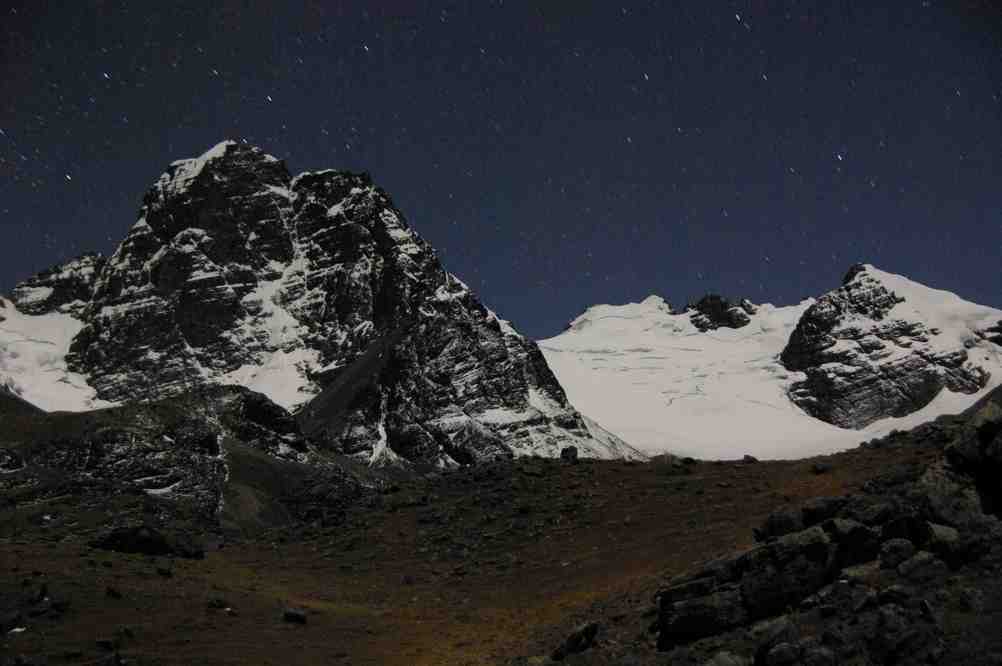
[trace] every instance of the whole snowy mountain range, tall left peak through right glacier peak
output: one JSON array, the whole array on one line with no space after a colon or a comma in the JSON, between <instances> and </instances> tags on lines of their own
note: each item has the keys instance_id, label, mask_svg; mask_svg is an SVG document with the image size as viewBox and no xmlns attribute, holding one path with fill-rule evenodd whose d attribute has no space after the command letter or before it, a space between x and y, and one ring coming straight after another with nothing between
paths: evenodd
<instances>
[{"instance_id":1,"label":"whole snowy mountain range, tall left peak through right glacier peak","mask_svg":"<svg viewBox=\"0 0 1002 666\"><path fill-rule=\"evenodd\" d=\"M1002 380L1002 311L869 264L797 305L596 305L540 349L368 174L294 177L233 141L170 164L109 258L21 282L0 316L0 383L42 409L237 386L371 465L803 457Z\"/></svg>"}]
</instances>

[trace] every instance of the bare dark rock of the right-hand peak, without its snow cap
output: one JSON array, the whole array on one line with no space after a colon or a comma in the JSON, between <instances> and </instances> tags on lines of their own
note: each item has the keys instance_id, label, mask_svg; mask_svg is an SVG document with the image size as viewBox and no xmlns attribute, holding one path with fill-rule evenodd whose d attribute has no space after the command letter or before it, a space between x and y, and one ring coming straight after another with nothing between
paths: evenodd
<instances>
[{"instance_id":1,"label":"bare dark rock of the right-hand peak, without its snow cap","mask_svg":"<svg viewBox=\"0 0 1002 666\"><path fill-rule=\"evenodd\" d=\"M988 373L968 363L967 349L931 346L940 330L890 316L904 301L866 265L850 269L841 287L808 308L783 351L786 368L806 375L791 389L794 403L837 426L863 428L922 409L943 389L984 388Z\"/></svg>"}]
</instances>

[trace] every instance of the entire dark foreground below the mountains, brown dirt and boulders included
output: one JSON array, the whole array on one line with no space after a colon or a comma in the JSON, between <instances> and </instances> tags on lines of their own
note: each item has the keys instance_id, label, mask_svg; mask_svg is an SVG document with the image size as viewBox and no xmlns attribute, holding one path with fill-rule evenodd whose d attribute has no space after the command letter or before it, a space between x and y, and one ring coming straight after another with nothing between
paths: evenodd
<instances>
[{"instance_id":1,"label":"entire dark foreground below the mountains, brown dirt and boulders included","mask_svg":"<svg viewBox=\"0 0 1002 666\"><path fill-rule=\"evenodd\" d=\"M8 498L0 663L1002 663L1000 420L798 462L522 459L215 540Z\"/></svg>"}]
</instances>

